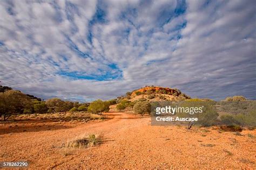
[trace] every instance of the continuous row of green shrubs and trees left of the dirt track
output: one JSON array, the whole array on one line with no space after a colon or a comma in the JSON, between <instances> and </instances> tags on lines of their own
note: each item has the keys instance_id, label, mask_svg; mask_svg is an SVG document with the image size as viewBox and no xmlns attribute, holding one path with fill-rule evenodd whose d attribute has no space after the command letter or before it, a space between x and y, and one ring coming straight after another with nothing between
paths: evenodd
<instances>
[{"instance_id":1,"label":"continuous row of green shrubs and trees left of the dirt track","mask_svg":"<svg viewBox=\"0 0 256 170\"><path fill-rule=\"evenodd\" d=\"M0 117L6 121L11 115L17 114L44 114L66 111L89 111L97 114L102 111L108 111L109 105L116 103L116 100L103 102L97 100L89 103L78 103L70 101L62 101L59 98L51 98L47 101L32 96L25 95L21 91L12 90L0 86Z\"/></svg>"}]
</instances>

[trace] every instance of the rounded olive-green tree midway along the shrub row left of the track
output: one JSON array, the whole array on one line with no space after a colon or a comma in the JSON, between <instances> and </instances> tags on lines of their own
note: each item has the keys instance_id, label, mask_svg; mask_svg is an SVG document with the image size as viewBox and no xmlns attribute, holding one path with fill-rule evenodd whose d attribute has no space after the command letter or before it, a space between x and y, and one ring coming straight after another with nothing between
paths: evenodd
<instances>
[{"instance_id":1,"label":"rounded olive-green tree midway along the shrub row left of the track","mask_svg":"<svg viewBox=\"0 0 256 170\"><path fill-rule=\"evenodd\" d=\"M65 102L60 100L59 98L51 98L45 102L47 107L49 108L48 112L59 112L65 111Z\"/></svg>"}]
</instances>

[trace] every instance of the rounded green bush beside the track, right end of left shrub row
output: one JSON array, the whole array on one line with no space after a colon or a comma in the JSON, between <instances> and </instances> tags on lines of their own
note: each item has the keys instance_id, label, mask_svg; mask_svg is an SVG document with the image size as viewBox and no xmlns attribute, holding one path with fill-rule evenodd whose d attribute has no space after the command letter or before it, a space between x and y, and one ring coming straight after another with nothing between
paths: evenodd
<instances>
[{"instance_id":1,"label":"rounded green bush beside the track, right end of left shrub row","mask_svg":"<svg viewBox=\"0 0 256 170\"><path fill-rule=\"evenodd\" d=\"M103 111L109 111L109 105L110 105L109 102L96 100L89 105L88 111L92 112L93 114L99 114L100 112L103 112Z\"/></svg>"}]
</instances>

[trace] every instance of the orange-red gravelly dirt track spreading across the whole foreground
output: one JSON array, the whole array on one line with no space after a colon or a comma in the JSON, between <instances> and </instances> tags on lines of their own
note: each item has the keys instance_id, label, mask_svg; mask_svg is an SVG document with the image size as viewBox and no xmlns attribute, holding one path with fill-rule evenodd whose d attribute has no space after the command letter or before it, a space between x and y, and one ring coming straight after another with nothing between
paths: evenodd
<instances>
[{"instance_id":1,"label":"orange-red gravelly dirt track spreading across the whole foreground","mask_svg":"<svg viewBox=\"0 0 256 170\"><path fill-rule=\"evenodd\" d=\"M149 117L107 112L112 119L66 129L0 135L0 161L30 162L30 169L255 168L255 138L208 128L151 126ZM65 124L65 123L63 123ZM103 134L97 147L66 150L65 141ZM203 134L203 135L202 135Z\"/></svg>"}]
</instances>

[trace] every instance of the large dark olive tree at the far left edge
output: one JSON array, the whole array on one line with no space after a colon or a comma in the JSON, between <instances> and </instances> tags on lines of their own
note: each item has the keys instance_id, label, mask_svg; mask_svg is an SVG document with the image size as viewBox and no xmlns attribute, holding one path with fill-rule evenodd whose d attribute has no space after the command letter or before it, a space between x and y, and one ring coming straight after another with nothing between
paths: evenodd
<instances>
[{"instance_id":1,"label":"large dark olive tree at the far left edge","mask_svg":"<svg viewBox=\"0 0 256 170\"><path fill-rule=\"evenodd\" d=\"M11 115L23 113L24 109L29 109L31 100L21 91L7 90L0 93L0 117L6 121Z\"/></svg>"}]
</instances>

